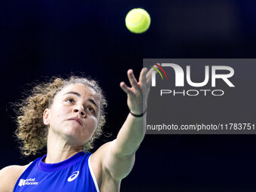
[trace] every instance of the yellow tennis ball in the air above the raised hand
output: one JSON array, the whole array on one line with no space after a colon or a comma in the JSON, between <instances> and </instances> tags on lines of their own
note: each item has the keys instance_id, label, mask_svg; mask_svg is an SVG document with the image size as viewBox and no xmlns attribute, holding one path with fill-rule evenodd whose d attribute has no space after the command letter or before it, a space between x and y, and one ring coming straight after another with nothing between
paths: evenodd
<instances>
[{"instance_id":1,"label":"yellow tennis ball in the air above the raised hand","mask_svg":"<svg viewBox=\"0 0 256 192\"><path fill-rule=\"evenodd\" d=\"M148 30L151 24L151 17L142 8L135 8L126 15L125 23L130 32L142 33Z\"/></svg>"}]
</instances>

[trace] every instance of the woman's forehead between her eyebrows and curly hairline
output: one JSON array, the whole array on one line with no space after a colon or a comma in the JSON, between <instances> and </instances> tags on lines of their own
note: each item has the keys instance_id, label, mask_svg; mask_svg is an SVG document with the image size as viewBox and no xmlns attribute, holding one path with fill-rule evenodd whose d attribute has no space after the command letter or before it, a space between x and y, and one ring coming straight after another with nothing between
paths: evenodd
<instances>
[{"instance_id":1,"label":"woman's forehead between her eyebrows and curly hairline","mask_svg":"<svg viewBox=\"0 0 256 192\"><path fill-rule=\"evenodd\" d=\"M59 91L58 95L63 96L69 92L79 93L82 98L89 96L93 99L99 100L99 95L98 93L96 93L96 90L85 84L69 84L66 87L64 87L61 91Z\"/></svg>"}]
</instances>

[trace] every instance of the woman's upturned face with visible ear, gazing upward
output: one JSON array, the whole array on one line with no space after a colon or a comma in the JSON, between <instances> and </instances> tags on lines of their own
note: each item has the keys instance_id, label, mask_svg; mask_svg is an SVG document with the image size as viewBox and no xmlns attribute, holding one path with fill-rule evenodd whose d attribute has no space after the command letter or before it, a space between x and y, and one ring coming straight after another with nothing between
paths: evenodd
<instances>
[{"instance_id":1,"label":"woman's upturned face with visible ear, gazing upward","mask_svg":"<svg viewBox=\"0 0 256 192\"><path fill-rule=\"evenodd\" d=\"M44 111L44 123L50 125L49 134L53 132L80 146L95 133L99 116L96 91L84 84L69 84L56 94L53 104Z\"/></svg>"}]
</instances>

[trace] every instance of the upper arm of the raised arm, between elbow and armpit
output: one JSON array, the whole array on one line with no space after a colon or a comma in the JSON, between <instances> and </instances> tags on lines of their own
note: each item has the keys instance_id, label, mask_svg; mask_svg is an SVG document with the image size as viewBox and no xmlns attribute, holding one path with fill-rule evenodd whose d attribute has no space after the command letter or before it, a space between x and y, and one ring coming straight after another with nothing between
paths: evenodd
<instances>
[{"instance_id":1,"label":"upper arm of the raised arm, between elbow and armpit","mask_svg":"<svg viewBox=\"0 0 256 192\"><path fill-rule=\"evenodd\" d=\"M101 159L102 175L106 174L114 181L125 178L133 169L135 152L129 156L121 157L117 150L116 139L102 145L95 154Z\"/></svg>"}]
</instances>

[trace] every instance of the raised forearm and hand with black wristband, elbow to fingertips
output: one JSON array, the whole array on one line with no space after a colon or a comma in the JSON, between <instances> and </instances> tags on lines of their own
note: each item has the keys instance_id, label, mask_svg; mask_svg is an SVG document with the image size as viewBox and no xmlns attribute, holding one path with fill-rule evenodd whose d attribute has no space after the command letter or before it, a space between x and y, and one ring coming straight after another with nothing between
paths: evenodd
<instances>
[{"instance_id":1,"label":"raised forearm and hand with black wristband, elbow to fingertips","mask_svg":"<svg viewBox=\"0 0 256 192\"><path fill-rule=\"evenodd\" d=\"M130 114L121 127L117 139L114 141L112 148L114 153L119 157L130 157L139 148L145 136L145 123L147 98L150 88L150 80L147 80L147 69L142 69L139 75L139 82L133 75L133 70L127 72L130 84L128 87L124 82L120 83L120 87L127 94L127 105L130 109ZM149 75L148 75L149 76ZM148 81L148 82L147 82ZM145 108L143 108L143 105ZM141 117L136 117L133 114Z\"/></svg>"}]
</instances>

